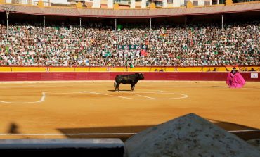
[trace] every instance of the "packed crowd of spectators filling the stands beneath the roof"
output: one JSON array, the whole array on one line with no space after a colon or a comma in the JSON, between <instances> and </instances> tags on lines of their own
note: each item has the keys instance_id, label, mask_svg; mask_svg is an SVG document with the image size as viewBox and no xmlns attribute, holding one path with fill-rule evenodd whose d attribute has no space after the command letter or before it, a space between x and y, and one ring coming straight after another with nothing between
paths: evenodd
<instances>
[{"instance_id":1,"label":"packed crowd of spectators filling the stands beneath the roof","mask_svg":"<svg viewBox=\"0 0 260 157\"><path fill-rule=\"evenodd\" d=\"M0 24L0 65L260 65L260 23L158 25ZM129 46L135 46L131 49ZM122 49L122 47L124 49Z\"/></svg>"}]
</instances>

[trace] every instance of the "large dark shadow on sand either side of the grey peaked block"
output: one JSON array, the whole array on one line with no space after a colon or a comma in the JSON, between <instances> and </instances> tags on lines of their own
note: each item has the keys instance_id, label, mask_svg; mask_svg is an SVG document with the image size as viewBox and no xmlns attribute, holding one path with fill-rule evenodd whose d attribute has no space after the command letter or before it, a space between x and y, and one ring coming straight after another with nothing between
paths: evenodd
<instances>
[{"instance_id":1,"label":"large dark shadow on sand either side of the grey peaked block","mask_svg":"<svg viewBox=\"0 0 260 157\"><path fill-rule=\"evenodd\" d=\"M217 125L223 130L237 135L241 139L259 139L260 130L254 127L239 125L235 123L221 122L219 120L210 120L214 125ZM65 134L68 138L119 138L123 142L134 134L141 132L148 127L155 125L141 126L118 126L118 127L83 127L83 128L59 128L58 130ZM241 131L243 130L243 131Z\"/></svg>"}]
</instances>

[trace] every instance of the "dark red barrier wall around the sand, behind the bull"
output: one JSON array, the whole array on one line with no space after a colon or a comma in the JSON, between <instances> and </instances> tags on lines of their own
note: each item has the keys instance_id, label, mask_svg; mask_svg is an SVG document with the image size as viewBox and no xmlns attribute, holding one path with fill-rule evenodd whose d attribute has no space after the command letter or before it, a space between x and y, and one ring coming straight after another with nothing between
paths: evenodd
<instances>
[{"instance_id":1,"label":"dark red barrier wall around the sand, behind the bull","mask_svg":"<svg viewBox=\"0 0 260 157\"><path fill-rule=\"evenodd\" d=\"M251 73L241 75L246 81L260 82L251 78ZM115 75L129 72L13 72L0 73L0 81L53 81L53 80L114 80ZM225 72L145 72L145 80L190 80L190 81L225 81Z\"/></svg>"}]
</instances>

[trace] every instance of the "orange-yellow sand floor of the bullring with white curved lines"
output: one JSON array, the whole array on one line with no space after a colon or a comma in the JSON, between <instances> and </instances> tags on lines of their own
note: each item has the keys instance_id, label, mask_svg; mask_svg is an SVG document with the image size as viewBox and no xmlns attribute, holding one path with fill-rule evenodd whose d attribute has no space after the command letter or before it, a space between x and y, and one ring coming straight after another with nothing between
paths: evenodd
<instances>
[{"instance_id":1,"label":"orange-yellow sand floor of the bullring with white curved lines","mask_svg":"<svg viewBox=\"0 0 260 157\"><path fill-rule=\"evenodd\" d=\"M259 130L260 82L1 82L0 139L129 137L195 113L225 130Z\"/></svg>"}]
</instances>

